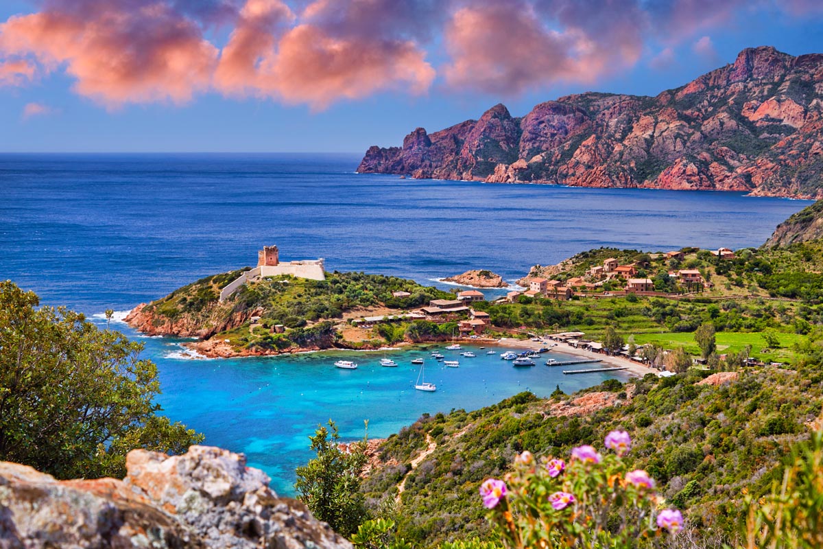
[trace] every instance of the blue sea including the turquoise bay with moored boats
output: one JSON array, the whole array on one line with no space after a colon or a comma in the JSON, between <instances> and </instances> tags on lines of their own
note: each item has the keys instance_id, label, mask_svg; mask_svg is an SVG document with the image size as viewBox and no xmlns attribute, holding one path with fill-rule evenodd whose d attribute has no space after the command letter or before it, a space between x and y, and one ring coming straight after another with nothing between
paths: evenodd
<instances>
[{"instance_id":1,"label":"blue sea including the turquoise bay with moored boats","mask_svg":"<svg viewBox=\"0 0 823 549\"><path fill-rule=\"evenodd\" d=\"M514 284L535 264L601 246L667 251L759 246L808 201L743 193L567 188L356 174L354 154L0 155L0 279L145 344L157 402L205 444L243 452L272 486L294 493L309 435L329 420L344 440L386 437L423 413L473 410L521 391L546 396L606 374L513 368L503 349L469 346L458 368L432 348L208 360L184 340L146 337L119 319L198 278L253 266L263 245L285 260L325 258L328 271L440 281L472 268ZM505 290L488 291L493 297ZM488 355L488 351L498 354ZM379 366L389 356L397 368ZM423 375L437 384L421 393ZM552 357L564 358L559 353ZM340 370L341 358L359 363ZM620 375L614 375L625 379Z\"/></svg>"}]
</instances>

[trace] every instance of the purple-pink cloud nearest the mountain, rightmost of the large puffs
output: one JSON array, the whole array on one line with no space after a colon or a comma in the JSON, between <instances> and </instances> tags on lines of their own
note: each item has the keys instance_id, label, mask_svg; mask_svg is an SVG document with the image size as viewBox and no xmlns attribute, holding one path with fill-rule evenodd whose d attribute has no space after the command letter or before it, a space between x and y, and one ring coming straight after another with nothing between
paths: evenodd
<instances>
[{"instance_id":1,"label":"purple-pink cloud nearest the mountain, rightmost of the large puffs","mask_svg":"<svg viewBox=\"0 0 823 549\"><path fill-rule=\"evenodd\" d=\"M575 2L536 7L524 0L461 7L444 32L452 58L444 67L446 81L457 89L517 94L559 81L591 83L636 63L638 33L611 29L588 8Z\"/></svg>"}]
</instances>

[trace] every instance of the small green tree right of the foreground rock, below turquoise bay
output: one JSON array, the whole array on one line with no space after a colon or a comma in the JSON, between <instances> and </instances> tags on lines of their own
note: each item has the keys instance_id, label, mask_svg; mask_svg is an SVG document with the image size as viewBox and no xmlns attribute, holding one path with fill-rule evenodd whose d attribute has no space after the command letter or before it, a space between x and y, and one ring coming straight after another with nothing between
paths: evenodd
<instances>
[{"instance_id":1,"label":"small green tree right of the foreground rock, below turquoise bay","mask_svg":"<svg viewBox=\"0 0 823 549\"><path fill-rule=\"evenodd\" d=\"M317 458L297 468L295 490L316 519L351 537L366 519L365 499L360 493L360 473L367 461L365 440L349 444L343 451L337 425L329 420L328 426L330 430L318 426L309 437Z\"/></svg>"}]
</instances>

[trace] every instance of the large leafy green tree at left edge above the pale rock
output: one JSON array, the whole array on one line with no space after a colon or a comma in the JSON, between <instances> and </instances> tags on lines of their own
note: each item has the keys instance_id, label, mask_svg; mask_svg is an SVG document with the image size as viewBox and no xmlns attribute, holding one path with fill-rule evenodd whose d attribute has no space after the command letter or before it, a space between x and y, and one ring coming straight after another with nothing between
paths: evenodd
<instances>
[{"instance_id":1,"label":"large leafy green tree at left edge above the pale rock","mask_svg":"<svg viewBox=\"0 0 823 549\"><path fill-rule=\"evenodd\" d=\"M202 440L156 415L142 345L0 282L0 459L55 477L123 477L129 450L182 453Z\"/></svg>"}]
</instances>

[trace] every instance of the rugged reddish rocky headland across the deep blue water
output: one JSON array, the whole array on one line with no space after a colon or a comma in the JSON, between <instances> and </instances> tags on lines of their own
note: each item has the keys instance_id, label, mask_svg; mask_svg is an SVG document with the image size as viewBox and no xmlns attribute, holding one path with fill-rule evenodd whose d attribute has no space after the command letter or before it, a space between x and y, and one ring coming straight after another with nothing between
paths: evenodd
<instances>
[{"instance_id":1,"label":"rugged reddish rocky headland across the deep blue water","mask_svg":"<svg viewBox=\"0 0 823 549\"><path fill-rule=\"evenodd\" d=\"M746 191L823 198L823 54L745 49L656 97L588 92L523 118L478 120L402 147L371 147L358 172L489 183Z\"/></svg>"}]
</instances>

